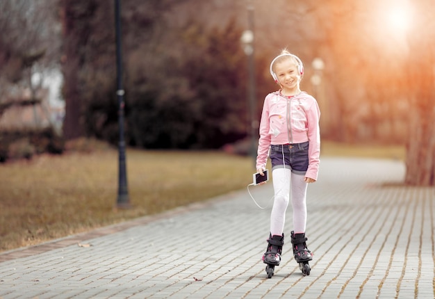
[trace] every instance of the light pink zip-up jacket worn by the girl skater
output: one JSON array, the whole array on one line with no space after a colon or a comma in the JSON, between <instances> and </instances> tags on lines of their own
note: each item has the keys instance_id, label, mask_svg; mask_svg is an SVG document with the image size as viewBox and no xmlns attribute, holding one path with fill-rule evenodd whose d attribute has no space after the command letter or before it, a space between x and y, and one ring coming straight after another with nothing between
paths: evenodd
<instances>
[{"instance_id":1,"label":"light pink zip-up jacket worn by the girl skater","mask_svg":"<svg viewBox=\"0 0 435 299\"><path fill-rule=\"evenodd\" d=\"M314 97L301 92L293 97L272 92L265 97L260 121L256 169L265 168L270 145L309 141L306 177L318 177L320 163L320 109Z\"/></svg>"}]
</instances>

